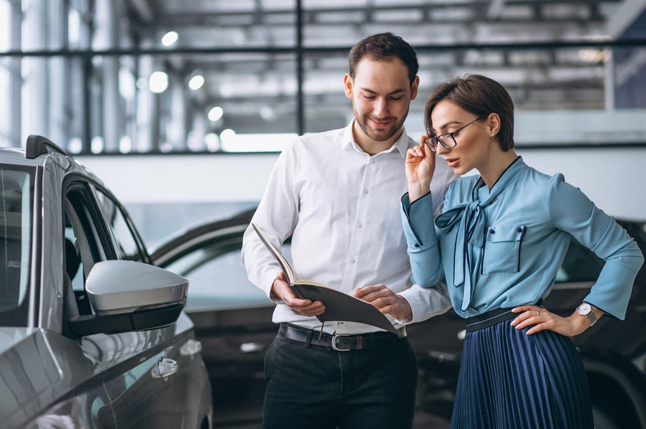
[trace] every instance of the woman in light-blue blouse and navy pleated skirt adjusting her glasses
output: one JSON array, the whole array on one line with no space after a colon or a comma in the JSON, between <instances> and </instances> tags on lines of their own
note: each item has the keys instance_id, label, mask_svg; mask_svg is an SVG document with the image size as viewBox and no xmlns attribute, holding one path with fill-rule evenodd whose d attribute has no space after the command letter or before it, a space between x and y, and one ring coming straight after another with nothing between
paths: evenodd
<instances>
[{"instance_id":1,"label":"woman in light-blue blouse and navy pleated skirt adjusting her glasses","mask_svg":"<svg viewBox=\"0 0 646 429\"><path fill-rule=\"evenodd\" d=\"M413 277L441 277L466 319L452 428L590 428L581 359L568 337L602 315L625 317L643 256L579 189L526 165L514 151L514 105L484 76L439 85L426 103L429 134L406 154L402 221ZM460 178L432 219L435 153ZM570 317L543 308L570 237L606 263Z\"/></svg>"}]
</instances>

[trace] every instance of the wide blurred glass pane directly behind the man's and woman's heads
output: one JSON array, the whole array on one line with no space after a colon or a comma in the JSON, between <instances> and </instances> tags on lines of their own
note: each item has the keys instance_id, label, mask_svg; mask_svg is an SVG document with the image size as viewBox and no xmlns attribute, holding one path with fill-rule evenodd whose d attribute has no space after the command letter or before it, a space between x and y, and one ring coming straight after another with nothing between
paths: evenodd
<instances>
[{"instance_id":1,"label":"wide blurred glass pane directly behind the man's and woman's heads","mask_svg":"<svg viewBox=\"0 0 646 429\"><path fill-rule=\"evenodd\" d=\"M646 48L631 49L633 68L630 79L625 79L621 73L609 72L613 52L603 48L420 48L419 90L410 105L406 131L413 138L424 133L424 105L436 85L457 76L483 74L499 81L514 101L515 141L519 147L643 143L646 123L640 118L646 106L638 99L646 81L641 79L646 76L646 61L638 63L640 49L646 52ZM342 87L343 75L348 72L347 52L308 52L304 70L306 132L347 125L353 118L351 101ZM618 97L623 104L616 107L622 109L609 109L612 103L618 103L613 101Z\"/></svg>"}]
</instances>

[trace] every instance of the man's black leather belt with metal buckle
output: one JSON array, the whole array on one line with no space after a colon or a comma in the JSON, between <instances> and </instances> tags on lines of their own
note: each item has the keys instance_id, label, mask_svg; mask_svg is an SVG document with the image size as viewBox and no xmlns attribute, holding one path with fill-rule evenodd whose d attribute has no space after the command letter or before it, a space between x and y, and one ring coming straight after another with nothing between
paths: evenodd
<instances>
[{"instance_id":1,"label":"man's black leather belt with metal buckle","mask_svg":"<svg viewBox=\"0 0 646 429\"><path fill-rule=\"evenodd\" d=\"M306 347L321 346L332 348L336 351L349 350L377 350L388 348L393 342L406 337L406 328L397 330L397 334L385 331L362 333L357 335L320 333L302 326L281 323L278 335L299 342L304 342Z\"/></svg>"}]
</instances>

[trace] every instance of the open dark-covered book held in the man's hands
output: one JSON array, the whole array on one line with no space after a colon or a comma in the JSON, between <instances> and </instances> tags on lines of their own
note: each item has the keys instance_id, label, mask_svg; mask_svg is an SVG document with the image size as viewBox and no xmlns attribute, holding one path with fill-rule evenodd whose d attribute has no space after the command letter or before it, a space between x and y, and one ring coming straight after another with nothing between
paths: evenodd
<instances>
[{"instance_id":1,"label":"open dark-covered book held in the man's hands","mask_svg":"<svg viewBox=\"0 0 646 429\"><path fill-rule=\"evenodd\" d=\"M280 264L280 267L285 273L287 283L291 286L295 295L301 299L310 299L312 301L321 301L325 304L326 309L322 315L318 315L317 319L321 322L343 321L343 322L359 322L365 323L382 330L395 333L396 330L391 324L390 320L382 315L378 309L374 308L368 302L355 298L347 293L337 291L329 286L324 286L312 282L311 280L297 280L295 278L294 270L289 265L289 262L280 254L278 249L265 238L258 228L258 225L251 224L253 229L260 237L260 240L269 249L272 255Z\"/></svg>"}]
</instances>

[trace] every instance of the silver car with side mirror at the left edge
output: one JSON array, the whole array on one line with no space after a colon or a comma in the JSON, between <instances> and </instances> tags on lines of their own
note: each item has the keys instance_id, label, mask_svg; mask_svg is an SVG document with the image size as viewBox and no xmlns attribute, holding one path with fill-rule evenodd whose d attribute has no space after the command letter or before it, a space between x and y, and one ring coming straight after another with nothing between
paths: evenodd
<instances>
[{"instance_id":1,"label":"silver car with side mirror at the left edge","mask_svg":"<svg viewBox=\"0 0 646 429\"><path fill-rule=\"evenodd\" d=\"M183 313L121 204L45 138L0 148L0 426L211 428Z\"/></svg>"}]
</instances>

